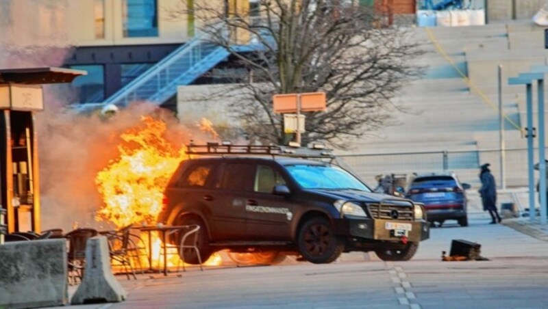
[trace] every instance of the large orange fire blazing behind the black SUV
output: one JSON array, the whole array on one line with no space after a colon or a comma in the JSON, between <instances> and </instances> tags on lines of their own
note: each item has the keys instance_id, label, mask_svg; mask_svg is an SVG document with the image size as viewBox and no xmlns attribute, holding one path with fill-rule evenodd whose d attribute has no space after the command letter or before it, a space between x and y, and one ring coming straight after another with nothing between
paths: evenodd
<instances>
[{"instance_id":1,"label":"large orange fire blazing behind the black SUV","mask_svg":"<svg viewBox=\"0 0 548 309\"><path fill-rule=\"evenodd\" d=\"M201 121L200 129L214 132L208 120ZM165 133L164 122L144 116L141 125L121 135L120 157L111 160L95 178L104 202L97 211L98 220L108 220L117 228L130 224L157 224L156 217L162 210L162 193L169 178L179 163L188 159L184 147L171 145L164 138ZM146 234L142 236L147 237ZM153 260L158 263L161 243L157 235L153 234L152 243ZM178 258L172 258L170 264L178 262ZM206 262L207 265L220 263L218 254Z\"/></svg>"}]
</instances>

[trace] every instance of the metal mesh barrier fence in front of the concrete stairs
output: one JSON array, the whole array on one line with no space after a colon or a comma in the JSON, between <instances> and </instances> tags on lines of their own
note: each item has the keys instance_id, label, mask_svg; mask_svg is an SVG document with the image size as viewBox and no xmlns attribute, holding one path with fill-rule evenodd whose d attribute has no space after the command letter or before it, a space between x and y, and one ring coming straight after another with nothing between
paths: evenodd
<instances>
[{"instance_id":1,"label":"metal mesh barrier fence in front of the concrete stairs","mask_svg":"<svg viewBox=\"0 0 548 309\"><path fill-rule=\"evenodd\" d=\"M535 150L535 154L538 151ZM497 186L527 187L527 148L501 150L462 150L338 156L371 187L379 174L407 174L451 171L462 183L479 187L479 166L490 163ZM501 170L501 157L504 171ZM538 158L535 157L535 162ZM535 175L538 179L538 172Z\"/></svg>"}]
</instances>

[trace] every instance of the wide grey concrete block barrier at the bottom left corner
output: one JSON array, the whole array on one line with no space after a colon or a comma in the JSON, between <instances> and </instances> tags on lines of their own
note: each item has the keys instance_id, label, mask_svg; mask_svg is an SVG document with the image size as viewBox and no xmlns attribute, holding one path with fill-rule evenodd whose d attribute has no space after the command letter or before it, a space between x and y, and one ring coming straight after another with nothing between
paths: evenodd
<instances>
[{"instance_id":1,"label":"wide grey concrete block barrier at the bottom left corner","mask_svg":"<svg viewBox=\"0 0 548 309\"><path fill-rule=\"evenodd\" d=\"M63 306L67 288L64 239L0 245L0 308Z\"/></svg>"}]
</instances>

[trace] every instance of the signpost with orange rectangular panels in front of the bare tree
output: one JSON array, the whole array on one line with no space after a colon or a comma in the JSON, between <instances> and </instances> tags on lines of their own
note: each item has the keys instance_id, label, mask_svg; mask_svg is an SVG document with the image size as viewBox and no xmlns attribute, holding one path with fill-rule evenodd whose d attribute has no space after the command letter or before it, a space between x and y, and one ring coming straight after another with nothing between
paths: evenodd
<instances>
[{"instance_id":1,"label":"signpost with orange rectangular panels in front of the bare tree","mask_svg":"<svg viewBox=\"0 0 548 309\"><path fill-rule=\"evenodd\" d=\"M304 132L304 119L301 111L325 111L325 92L307 92L303 94L275 94L272 98L275 113L297 113L295 119L295 139L301 144L301 132ZM285 124L284 119L284 124ZM303 122L301 124L300 122ZM285 126L285 125L284 125ZM300 130L302 128L302 131Z\"/></svg>"}]
</instances>

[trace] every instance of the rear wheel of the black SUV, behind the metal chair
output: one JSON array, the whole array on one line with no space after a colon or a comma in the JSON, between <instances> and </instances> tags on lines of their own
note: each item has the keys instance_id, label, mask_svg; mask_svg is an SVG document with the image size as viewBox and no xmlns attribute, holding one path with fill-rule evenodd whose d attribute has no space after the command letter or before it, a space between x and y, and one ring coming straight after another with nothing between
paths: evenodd
<instances>
[{"instance_id":1,"label":"rear wheel of the black SUV, behind the metal chair","mask_svg":"<svg viewBox=\"0 0 548 309\"><path fill-rule=\"evenodd\" d=\"M190 226L190 225L197 225L200 226L200 230L198 231L198 239L196 242L196 247L198 248L198 251L200 252L200 258L201 262L205 263L206 260L210 258L210 256L213 254L213 251L210 247L210 240L208 237L208 230L206 228L206 224L201 221L201 219L196 217L182 217L179 220L177 220L176 223L178 226ZM183 234L177 235L177 244L181 243L181 238L183 237ZM188 237L186 239L185 245L190 245L190 241L192 241L194 237ZM184 260L185 263L192 264L192 265L198 265L200 263L200 259L197 256L196 250L191 247L185 247L183 250L179 251L179 256L182 260Z\"/></svg>"}]
</instances>

